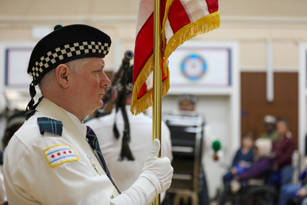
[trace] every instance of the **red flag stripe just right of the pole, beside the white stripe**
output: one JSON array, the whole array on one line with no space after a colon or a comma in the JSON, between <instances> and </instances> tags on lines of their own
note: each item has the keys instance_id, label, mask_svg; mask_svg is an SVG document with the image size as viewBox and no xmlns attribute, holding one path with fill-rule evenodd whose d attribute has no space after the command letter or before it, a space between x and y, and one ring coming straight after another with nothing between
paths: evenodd
<instances>
[{"instance_id":1,"label":"red flag stripe just right of the pole, beside the white stripe","mask_svg":"<svg viewBox=\"0 0 307 205\"><path fill-rule=\"evenodd\" d=\"M185 25L191 23L190 18L180 0L174 0L170 6L168 19L174 34Z\"/></svg>"}]
</instances>

